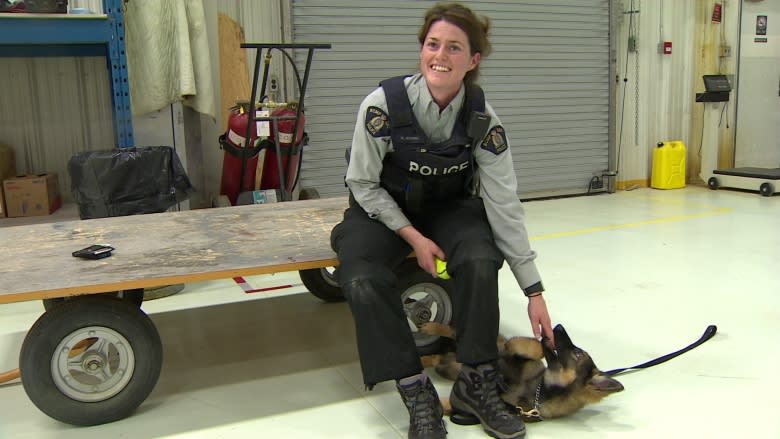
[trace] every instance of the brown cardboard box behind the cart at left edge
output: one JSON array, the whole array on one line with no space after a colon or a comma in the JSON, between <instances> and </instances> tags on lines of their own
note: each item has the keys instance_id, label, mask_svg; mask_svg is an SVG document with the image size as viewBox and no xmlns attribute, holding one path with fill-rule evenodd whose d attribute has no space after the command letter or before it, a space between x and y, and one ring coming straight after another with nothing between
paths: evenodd
<instances>
[{"instance_id":1,"label":"brown cardboard box behind the cart at left edge","mask_svg":"<svg viewBox=\"0 0 780 439\"><path fill-rule=\"evenodd\" d=\"M3 180L9 218L49 215L62 205L57 174L22 175Z\"/></svg>"}]
</instances>

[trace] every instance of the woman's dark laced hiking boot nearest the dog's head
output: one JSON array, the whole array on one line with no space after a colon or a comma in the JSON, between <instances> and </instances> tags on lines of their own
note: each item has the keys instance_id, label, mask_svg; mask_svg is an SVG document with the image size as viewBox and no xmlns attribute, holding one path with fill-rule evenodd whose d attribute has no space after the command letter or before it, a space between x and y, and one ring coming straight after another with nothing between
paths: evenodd
<instances>
[{"instance_id":1,"label":"woman's dark laced hiking boot nearest the dog's head","mask_svg":"<svg viewBox=\"0 0 780 439\"><path fill-rule=\"evenodd\" d=\"M491 363L480 364L476 368L463 365L450 393L452 414L476 417L485 433L492 437L523 438L525 424L498 395L498 381L498 369Z\"/></svg>"}]
</instances>

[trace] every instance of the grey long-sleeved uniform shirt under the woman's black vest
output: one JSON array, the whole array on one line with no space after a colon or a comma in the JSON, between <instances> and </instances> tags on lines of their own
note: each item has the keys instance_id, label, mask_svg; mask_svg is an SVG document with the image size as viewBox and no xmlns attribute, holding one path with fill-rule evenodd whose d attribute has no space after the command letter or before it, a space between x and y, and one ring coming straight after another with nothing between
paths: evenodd
<instances>
[{"instance_id":1,"label":"grey long-sleeved uniform shirt under the woman's black vest","mask_svg":"<svg viewBox=\"0 0 780 439\"><path fill-rule=\"evenodd\" d=\"M405 84L414 116L430 141L436 143L449 139L463 105L465 88L461 87L452 102L439 112L439 106L433 101L420 73L406 78ZM382 87L374 90L360 104L346 183L355 201L371 218L397 231L411 223L393 197L379 186L382 161L385 154L393 151L393 143L386 129L388 122L382 120L376 108L384 115L388 114ZM491 129L474 152L480 182L479 196L484 201L496 244L520 288L525 290L541 281L534 263L536 252L531 250L528 241L525 213L517 198L517 177L501 121L487 102L485 111L491 117Z\"/></svg>"}]
</instances>

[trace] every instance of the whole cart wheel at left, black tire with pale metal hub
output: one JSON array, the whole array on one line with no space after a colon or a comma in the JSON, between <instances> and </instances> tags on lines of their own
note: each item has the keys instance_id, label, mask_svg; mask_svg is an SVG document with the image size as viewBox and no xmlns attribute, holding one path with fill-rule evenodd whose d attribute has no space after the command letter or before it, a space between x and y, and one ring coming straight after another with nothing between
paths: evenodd
<instances>
[{"instance_id":1,"label":"whole cart wheel at left, black tire with pale metal hub","mask_svg":"<svg viewBox=\"0 0 780 439\"><path fill-rule=\"evenodd\" d=\"M162 343L136 305L82 296L44 313L24 339L22 385L42 412L73 425L129 416L149 396L162 367Z\"/></svg>"}]
</instances>

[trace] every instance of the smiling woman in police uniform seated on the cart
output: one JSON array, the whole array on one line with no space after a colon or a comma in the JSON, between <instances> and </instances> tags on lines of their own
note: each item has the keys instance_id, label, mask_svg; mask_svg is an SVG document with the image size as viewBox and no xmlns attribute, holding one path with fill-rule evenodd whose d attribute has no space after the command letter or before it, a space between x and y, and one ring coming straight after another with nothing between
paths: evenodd
<instances>
[{"instance_id":1,"label":"smiling woman in police uniform seated on the cart","mask_svg":"<svg viewBox=\"0 0 780 439\"><path fill-rule=\"evenodd\" d=\"M350 205L331 234L337 277L352 310L363 379L395 380L409 410L409 438L443 438L438 395L423 373L393 269L414 251L453 282L457 359L450 402L497 438L525 426L498 396L498 270L506 260L528 297L534 335L552 343L536 254L530 248L506 133L475 84L490 52L489 20L460 4L427 11L420 72L391 78L362 102L346 183ZM469 124L483 115L481 132ZM485 116L486 114L486 116Z\"/></svg>"}]
</instances>

